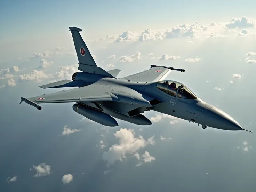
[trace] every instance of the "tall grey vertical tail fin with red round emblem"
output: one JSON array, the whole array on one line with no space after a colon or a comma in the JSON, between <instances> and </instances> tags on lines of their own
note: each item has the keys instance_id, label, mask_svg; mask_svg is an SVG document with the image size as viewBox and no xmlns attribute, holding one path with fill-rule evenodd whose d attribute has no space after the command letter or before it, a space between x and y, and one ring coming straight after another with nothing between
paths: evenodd
<instances>
[{"instance_id":1,"label":"tall grey vertical tail fin with red round emblem","mask_svg":"<svg viewBox=\"0 0 256 192\"><path fill-rule=\"evenodd\" d=\"M87 73L95 73L104 75L105 77L115 78L110 73L103 70L101 67L98 67L91 56L90 51L88 50L83 38L80 35L81 29L77 27L69 27L69 31L72 34L72 38L75 45L75 51L77 52L78 62L79 62L79 70Z\"/></svg>"}]
</instances>

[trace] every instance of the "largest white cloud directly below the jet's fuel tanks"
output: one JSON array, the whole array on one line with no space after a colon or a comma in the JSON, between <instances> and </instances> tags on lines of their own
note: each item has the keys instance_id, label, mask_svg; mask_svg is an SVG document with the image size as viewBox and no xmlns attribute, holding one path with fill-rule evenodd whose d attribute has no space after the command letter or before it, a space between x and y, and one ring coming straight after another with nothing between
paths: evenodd
<instances>
[{"instance_id":1,"label":"largest white cloud directly below the jet's fuel tanks","mask_svg":"<svg viewBox=\"0 0 256 192\"><path fill-rule=\"evenodd\" d=\"M113 165L117 160L122 161L126 158L126 154L134 155L139 149L154 144L154 136L146 141L141 135L135 137L133 129L121 128L114 133L114 136L119 139L119 144L112 145L102 155L102 159L107 161L107 166Z\"/></svg>"}]
</instances>

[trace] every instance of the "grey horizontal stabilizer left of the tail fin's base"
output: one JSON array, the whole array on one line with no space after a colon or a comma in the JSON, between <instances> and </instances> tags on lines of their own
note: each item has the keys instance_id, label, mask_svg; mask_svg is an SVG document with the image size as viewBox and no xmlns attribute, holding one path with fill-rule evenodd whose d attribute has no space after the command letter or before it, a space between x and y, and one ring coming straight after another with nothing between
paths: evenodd
<instances>
[{"instance_id":1,"label":"grey horizontal stabilizer left of the tail fin's base","mask_svg":"<svg viewBox=\"0 0 256 192\"><path fill-rule=\"evenodd\" d=\"M86 86L86 82L83 80L77 80L77 81L70 81L70 80L62 80L62 81L57 81L53 83L49 83L46 85L41 85L39 87L43 89L48 89L48 88L61 88L61 87L83 87Z\"/></svg>"}]
</instances>

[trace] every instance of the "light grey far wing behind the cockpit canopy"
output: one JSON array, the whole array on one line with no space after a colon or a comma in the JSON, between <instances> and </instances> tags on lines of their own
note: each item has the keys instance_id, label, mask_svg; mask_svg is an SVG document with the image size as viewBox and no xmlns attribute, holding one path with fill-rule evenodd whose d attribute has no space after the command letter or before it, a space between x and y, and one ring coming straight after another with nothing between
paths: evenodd
<instances>
[{"instance_id":1,"label":"light grey far wing behind the cockpit canopy","mask_svg":"<svg viewBox=\"0 0 256 192\"><path fill-rule=\"evenodd\" d=\"M167 75L171 72L170 67L162 67L162 66L154 66L149 70L139 72L133 75L129 75L127 77L123 77L120 79L130 80L133 82L155 82L164 80Z\"/></svg>"}]
</instances>

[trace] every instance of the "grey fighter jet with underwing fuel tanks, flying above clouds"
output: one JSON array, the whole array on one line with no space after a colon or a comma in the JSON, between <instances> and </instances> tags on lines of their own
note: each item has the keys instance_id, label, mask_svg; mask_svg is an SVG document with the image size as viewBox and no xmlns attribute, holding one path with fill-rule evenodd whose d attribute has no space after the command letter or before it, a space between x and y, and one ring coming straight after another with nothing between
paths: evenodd
<instances>
[{"instance_id":1,"label":"grey fighter jet with underwing fuel tanks, flying above clouds","mask_svg":"<svg viewBox=\"0 0 256 192\"><path fill-rule=\"evenodd\" d=\"M245 130L228 114L196 96L186 85L165 80L171 71L185 72L168 66L151 65L149 70L116 78L121 70L105 71L98 67L77 27L69 27L77 53L80 72L72 81L62 80L46 88L76 87L69 90L23 98L37 109L41 103L75 103L73 110L105 126L118 126L114 118L137 125L151 125L141 113L158 111L189 122L224 130ZM20 104L21 104L20 103ZM113 118L114 117L114 118ZM251 132L251 131L250 131Z\"/></svg>"}]
</instances>

